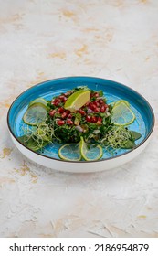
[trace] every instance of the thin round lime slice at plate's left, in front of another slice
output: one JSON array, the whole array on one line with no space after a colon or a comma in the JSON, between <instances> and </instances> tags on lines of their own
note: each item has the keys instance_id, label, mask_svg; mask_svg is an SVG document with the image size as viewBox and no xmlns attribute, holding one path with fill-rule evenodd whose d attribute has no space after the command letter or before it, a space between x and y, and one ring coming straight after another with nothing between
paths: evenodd
<instances>
[{"instance_id":1,"label":"thin round lime slice at plate's left, in front of another slice","mask_svg":"<svg viewBox=\"0 0 158 256\"><path fill-rule=\"evenodd\" d=\"M42 103L34 103L26 110L23 121L26 124L37 125L47 119L47 106Z\"/></svg>"}]
</instances>

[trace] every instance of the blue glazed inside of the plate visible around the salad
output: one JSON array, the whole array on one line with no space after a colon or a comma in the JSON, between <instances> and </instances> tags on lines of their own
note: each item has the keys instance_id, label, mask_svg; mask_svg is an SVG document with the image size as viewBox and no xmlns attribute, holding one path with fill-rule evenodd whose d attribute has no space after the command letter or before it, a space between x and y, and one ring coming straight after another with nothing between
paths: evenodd
<instances>
[{"instance_id":1,"label":"blue glazed inside of the plate visible around the salad","mask_svg":"<svg viewBox=\"0 0 158 256\"><path fill-rule=\"evenodd\" d=\"M129 125L129 129L142 134L142 137L136 141L136 144L138 146L141 145L150 136L153 131L154 115L149 103L139 93L118 82L91 77L69 77L58 80L48 80L24 91L16 98L16 101L13 102L8 112L8 126L11 133L16 138L25 133L27 125L23 122L22 117L30 101L38 97L51 100L61 92L66 92L69 89L82 85L87 85L90 89L95 91L102 90L108 103L121 99L129 101L132 112L136 115L136 120ZM38 154L59 159L59 147L60 144L49 144L42 152L38 152ZM119 149L112 152L111 155L110 152L104 149L104 154L101 159L109 159L127 153L128 151L129 150Z\"/></svg>"}]
</instances>

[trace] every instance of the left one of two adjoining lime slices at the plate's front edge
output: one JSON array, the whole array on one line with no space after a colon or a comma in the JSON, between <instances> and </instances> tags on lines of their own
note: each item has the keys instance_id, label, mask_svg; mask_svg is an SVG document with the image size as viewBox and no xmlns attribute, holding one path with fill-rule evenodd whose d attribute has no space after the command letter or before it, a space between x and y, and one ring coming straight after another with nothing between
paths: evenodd
<instances>
[{"instance_id":1,"label":"left one of two adjoining lime slices at the plate's front edge","mask_svg":"<svg viewBox=\"0 0 158 256\"><path fill-rule=\"evenodd\" d=\"M58 156L65 161L79 161L81 155L79 144L64 144L58 150Z\"/></svg>"}]
</instances>

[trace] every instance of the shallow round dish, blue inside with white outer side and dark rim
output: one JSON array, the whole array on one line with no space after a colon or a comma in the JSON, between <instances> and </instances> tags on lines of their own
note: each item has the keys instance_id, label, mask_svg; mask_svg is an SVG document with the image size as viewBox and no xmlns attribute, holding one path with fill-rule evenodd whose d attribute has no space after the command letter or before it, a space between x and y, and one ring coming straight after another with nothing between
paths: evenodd
<instances>
[{"instance_id":1,"label":"shallow round dish, blue inside with white outer side and dark rim","mask_svg":"<svg viewBox=\"0 0 158 256\"><path fill-rule=\"evenodd\" d=\"M28 103L30 101L33 101L39 97L42 97L46 100L51 100L54 96L57 96L61 92L66 92L70 89L73 89L74 87L83 86L83 85L86 85L90 89L93 89L95 91L102 90L108 103L111 103L112 101L122 100L122 99L129 101L131 104L132 112L134 112L136 116L135 121L131 125L129 125L129 129L142 134L142 137L138 141L136 141L136 147L134 149L132 150L118 149L112 155L107 150L104 150L102 158L99 161L96 161L96 163L99 163L99 162L105 163L106 161L107 161L106 163L112 163L114 161L115 163L116 162L121 163L121 161L118 160L118 158L120 159L126 158L126 161L125 160L122 161L121 164L123 164L131 160L130 155L134 155L132 151L135 151L136 155L138 154L139 151L140 152L142 151L144 146L147 144L146 142L148 141L148 139L151 137L151 134L153 133L153 126L154 126L153 109L148 103L148 101L146 101L142 97L142 95L139 94L138 92L133 91L131 88L112 80L104 80L104 79L94 78L94 77L68 77L68 78L60 78L56 80L47 80L42 83L39 83L31 87L30 89L24 91L12 103L7 115L8 128L16 146L24 155L26 155L28 158L31 158L33 161L36 161L41 165L51 167L51 164L50 165L46 164L48 160L48 162L50 161L50 163L53 163L53 168L56 168L58 170L67 169L68 171L69 170L68 168L72 169L71 167L64 168L63 164L61 164L63 165L63 167L58 167L59 163L61 162L62 163L65 162L65 165L69 165L69 166L71 163L75 164L75 166L77 166L77 164L81 166L90 164L90 162L88 163L88 162L81 161L81 162L74 163L73 161L67 162L59 159L58 148L60 144L47 145L43 152L35 153L30 149L26 148L17 139L19 136L22 136L25 133L24 131L26 129L26 124L23 122L22 117L26 112ZM138 152L136 153L136 151ZM127 155L127 157L125 155ZM37 160L37 158L39 158L40 161ZM92 162L91 164L93 164L91 166L94 166L95 161L91 161L91 162ZM56 165L56 163L58 164ZM110 164L109 168L114 166L115 166L114 164L112 165ZM99 167L97 167L96 165L95 168L99 168ZM105 164L102 165L101 167L101 170L103 169L106 169Z\"/></svg>"}]
</instances>

